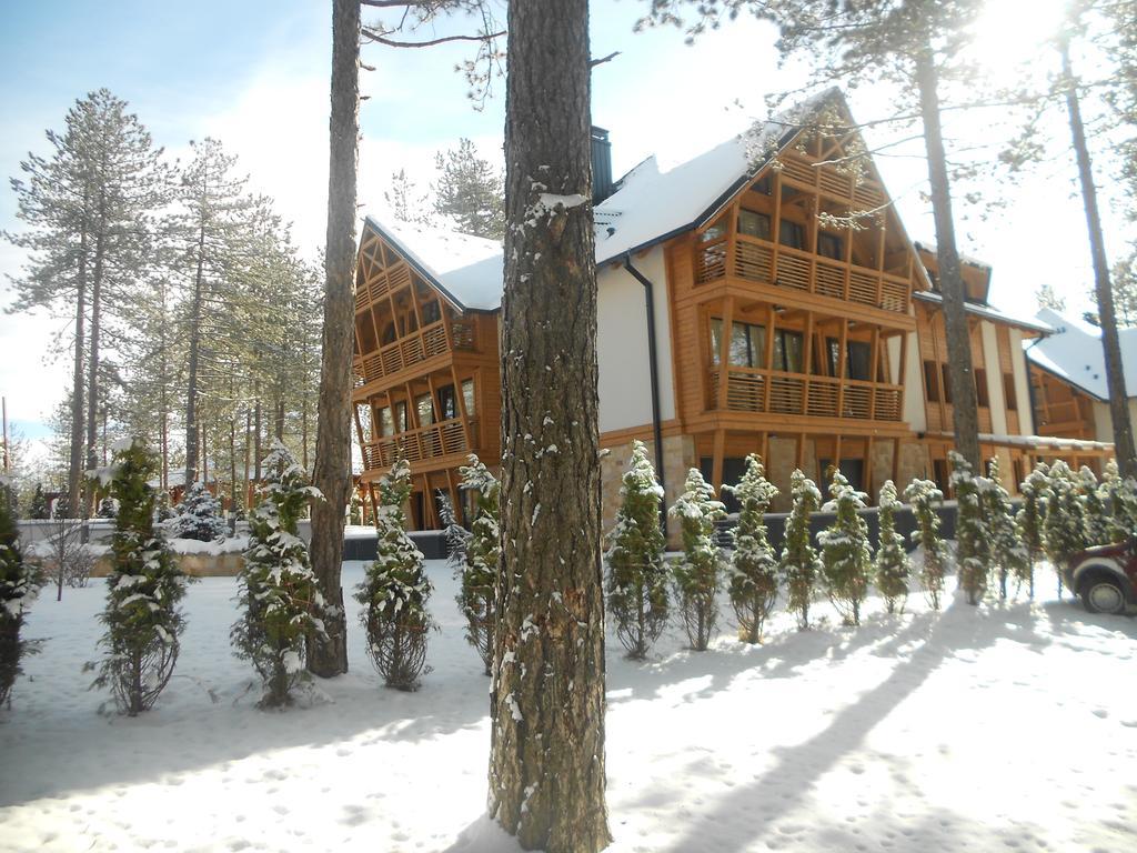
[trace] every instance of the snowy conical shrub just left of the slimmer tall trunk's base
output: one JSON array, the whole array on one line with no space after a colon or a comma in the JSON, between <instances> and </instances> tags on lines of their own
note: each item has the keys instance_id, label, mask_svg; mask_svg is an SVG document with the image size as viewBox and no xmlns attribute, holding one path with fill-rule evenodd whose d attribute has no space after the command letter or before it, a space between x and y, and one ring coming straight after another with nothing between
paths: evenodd
<instances>
[{"instance_id":1,"label":"snowy conical shrub just left of the slimmer tall trunk's base","mask_svg":"<svg viewBox=\"0 0 1137 853\"><path fill-rule=\"evenodd\" d=\"M324 598L312 571L308 547L297 522L319 490L308 486L296 459L280 441L265 457L268 479L260 505L249 513L249 545L238 575L242 615L230 639L234 654L252 662L260 676L262 707L292 702L292 689L306 678L306 641L324 638Z\"/></svg>"}]
</instances>

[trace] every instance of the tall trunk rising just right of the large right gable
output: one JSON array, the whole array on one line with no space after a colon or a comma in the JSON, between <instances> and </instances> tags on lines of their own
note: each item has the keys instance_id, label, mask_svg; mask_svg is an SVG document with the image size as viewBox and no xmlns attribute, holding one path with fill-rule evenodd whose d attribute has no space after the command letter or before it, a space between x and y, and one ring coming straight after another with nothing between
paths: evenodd
<instances>
[{"instance_id":1,"label":"tall trunk rising just right of the large right gable","mask_svg":"<svg viewBox=\"0 0 1137 853\"><path fill-rule=\"evenodd\" d=\"M952 390L955 449L971 463L973 471L981 472L979 401L976 397L976 373L971 364L971 334L968 331L965 290L960 251L955 246L952 188L947 177L947 156L944 152L944 131L940 125L939 72L930 44L916 56L916 82L920 86L920 111L923 116L924 147L928 151L931 208L936 221L939 289L944 297L947 379Z\"/></svg>"}]
</instances>

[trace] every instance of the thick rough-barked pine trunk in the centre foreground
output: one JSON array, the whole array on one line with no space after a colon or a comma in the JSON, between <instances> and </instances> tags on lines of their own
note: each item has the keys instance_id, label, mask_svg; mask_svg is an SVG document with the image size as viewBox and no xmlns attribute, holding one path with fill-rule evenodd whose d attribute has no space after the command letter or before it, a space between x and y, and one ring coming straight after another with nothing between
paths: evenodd
<instances>
[{"instance_id":1,"label":"thick rough-barked pine trunk in the centre foreground","mask_svg":"<svg viewBox=\"0 0 1137 853\"><path fill-rule=\"evenodd\" d=\"M592 853L609 835L588 2L509 3L508 30L489 809L523 847Z\"/></svg>"}]
</instances>

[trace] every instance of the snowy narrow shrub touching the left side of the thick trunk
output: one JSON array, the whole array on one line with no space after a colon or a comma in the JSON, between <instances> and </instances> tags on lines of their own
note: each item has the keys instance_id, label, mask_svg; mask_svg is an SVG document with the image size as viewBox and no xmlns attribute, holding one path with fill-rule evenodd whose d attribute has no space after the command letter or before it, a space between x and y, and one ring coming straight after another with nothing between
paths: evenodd
<instances>
[{"instance_id":1,"label":"snowy narrow shrub touching the left side of the thick trunk","mask_svg":"<svg viewBox=\"0 0 1137 853\"><path fill-rule=\"evenodd\" d=\"M458 607L466 618L466 640L478 649L490 674L493 663L493 628L497 622L497 573L501 560L500 541L500 492L497 478L481 463L476 455L470 454L470 464L458 471L462 474L462 488L478 496L478 513L471 531L462 545L463 556L456 565L459 573ZM460 539L457 522L447 528L447 537L455 541ZM451 553L450 560L455 560Z\"/></svg>"}]
</instances>

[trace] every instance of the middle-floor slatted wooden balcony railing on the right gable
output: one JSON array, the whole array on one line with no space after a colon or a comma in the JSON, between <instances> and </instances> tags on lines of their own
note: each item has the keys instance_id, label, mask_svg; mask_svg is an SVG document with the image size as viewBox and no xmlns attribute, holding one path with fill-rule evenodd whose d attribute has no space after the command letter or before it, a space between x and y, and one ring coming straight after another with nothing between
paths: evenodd
<instances>
[{"instance_id":1,"label":"middle-floor slatted wooden balcony railing on the right gable","mask_svg":"<svg viewBox=\"0 0 1137 853\"><path fill-rule=\"evenodd\" d=\"M719 409L722 373L711 371L707 408ZM901 386L833 376L806 376L754 367L731 367L727 376L727 411L769 412L811 417L899 421Z\"/></svg>"}]
</instances>

